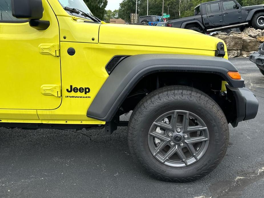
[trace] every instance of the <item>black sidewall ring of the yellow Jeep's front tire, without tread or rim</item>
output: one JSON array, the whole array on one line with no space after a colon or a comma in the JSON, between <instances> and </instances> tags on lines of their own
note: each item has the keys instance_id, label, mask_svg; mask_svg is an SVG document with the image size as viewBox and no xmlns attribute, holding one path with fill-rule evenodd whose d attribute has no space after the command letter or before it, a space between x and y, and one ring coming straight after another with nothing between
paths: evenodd
<instances>
[{"instance_id":1,"label":"black sidewall ring of the yellow Jeep's front tire, without tread or rim","mask_svg":"<svg viewBox=\"0 0 264 198\"><path fill-rule=\"evenodd\" d=\"M170 100L171 99L171 100ZM212 101L211 101L212 102ZM187 167L175 168L160 163L148 148L148 132L152 123L162 114L172 110L186 110L199 116L206 124L209 131L209 146L199 161ZM209 171L219 161L219 153L222 152L223 140L226 139L226 123L219 120L219 114L215 108L205 100L196 96L183 96L182 94L168 93L148 104L140 114L140 119L135 123L135 145L138 149L138 157L153 169L160 177L185 178L194 177L203 171ZM143 163L143 162L142 162ZM180 170L180 171L177 171Z\"/></svg>"}]
</instances>

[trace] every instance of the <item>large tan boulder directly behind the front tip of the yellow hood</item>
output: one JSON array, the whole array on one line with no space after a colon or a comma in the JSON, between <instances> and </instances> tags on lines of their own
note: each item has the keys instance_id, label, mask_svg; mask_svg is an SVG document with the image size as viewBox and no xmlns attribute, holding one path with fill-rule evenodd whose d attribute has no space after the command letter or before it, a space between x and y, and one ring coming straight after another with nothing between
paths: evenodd
<instances>
[{"instance_id":1,"label":"large tan boulder directly behind the front tip of the yellow hood","mask_svg":"<svg viewBox=\"0 0 264 198\"><path fill-rule=\"evenodd\" d=\"M215 35L215 37L222 39L225 42L227 50L239 50L243 46L243 40L239 36Z\"/></svg>"}]
</instances>

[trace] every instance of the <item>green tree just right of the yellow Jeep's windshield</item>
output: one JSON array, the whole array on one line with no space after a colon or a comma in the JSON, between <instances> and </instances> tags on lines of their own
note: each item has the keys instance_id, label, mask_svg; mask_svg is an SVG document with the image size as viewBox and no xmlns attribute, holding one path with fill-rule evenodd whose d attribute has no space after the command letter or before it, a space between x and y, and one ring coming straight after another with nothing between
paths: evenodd
<instances>
[{"instance_id":1,"label":"green tree just right of the yellow Jeep's windshield","mask_svg":"<svg viewBox=\"0 0 264 198\"><path fill-rule=\"evenodd\" d=\"M101 20L104 20L105 8L107 6L107 0L84 0L92 14Z\"/></svg>"}]
</instances>

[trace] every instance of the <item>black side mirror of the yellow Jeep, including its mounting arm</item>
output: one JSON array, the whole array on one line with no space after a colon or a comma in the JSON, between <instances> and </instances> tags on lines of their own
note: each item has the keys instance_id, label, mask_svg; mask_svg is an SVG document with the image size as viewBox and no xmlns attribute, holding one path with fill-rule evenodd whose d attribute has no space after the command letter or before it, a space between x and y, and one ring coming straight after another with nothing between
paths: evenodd
<instances>
[{"instance_id":1,"label":"black side mirror of the yellow Jeep, including its mounting arm","mask_svg":"<svg viewBox=\"0 0 264 198\"><path fill-rule=\"evenodd\" d=\"M12 15L17 19L29 19L29 25L37 30L46 30L49 21L41 21L43 17L42 0L11 0Z\"/></svg>"}]
</instances>

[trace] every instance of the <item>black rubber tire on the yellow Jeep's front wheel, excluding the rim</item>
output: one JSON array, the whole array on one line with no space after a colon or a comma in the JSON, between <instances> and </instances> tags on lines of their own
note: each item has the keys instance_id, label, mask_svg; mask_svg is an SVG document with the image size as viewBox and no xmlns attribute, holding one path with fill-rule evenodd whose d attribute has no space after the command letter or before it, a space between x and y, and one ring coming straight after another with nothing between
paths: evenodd
<instances>
[{"instance_id":1,"label":"black rubber tire on the yellow Jeep's front wheel, excluding the rim","mask_svg":"<svg viewBox=\"0 0 264 198\"><path fill-rule=\"evenodd\" d=\"M171 110L186 110L200 116L208 127L209 146L204 155L186 167L162 164L148 146L150 126ZM207 94L187 86L168 86L151 92L135 107L128 124L128 146L134 159L149 173L164 181L187 182L213 171L223 159L229 143L229 128L218 104Z\"/></svg>"}]
</instances>

